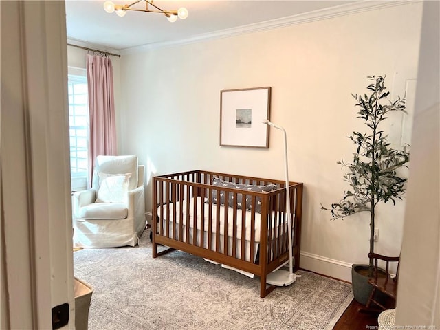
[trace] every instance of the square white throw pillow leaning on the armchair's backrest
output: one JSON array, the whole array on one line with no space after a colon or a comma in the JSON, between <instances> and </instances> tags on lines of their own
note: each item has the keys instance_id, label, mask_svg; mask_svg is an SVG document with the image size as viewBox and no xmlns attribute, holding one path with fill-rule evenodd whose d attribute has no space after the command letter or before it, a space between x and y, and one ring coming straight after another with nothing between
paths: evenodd
<instances>
[{"instance_id":1,"label":"square white throw pillow leaning on the armchair's backrest","mask_svg":"<svg viewBox=\"0 0 440 330\"><path fill-rule=\"evenodd\" d=\"M98 173L99 190L96 203L126 203L129 191L129 177L127 174Z\"/></svg>"}]
</instances>

